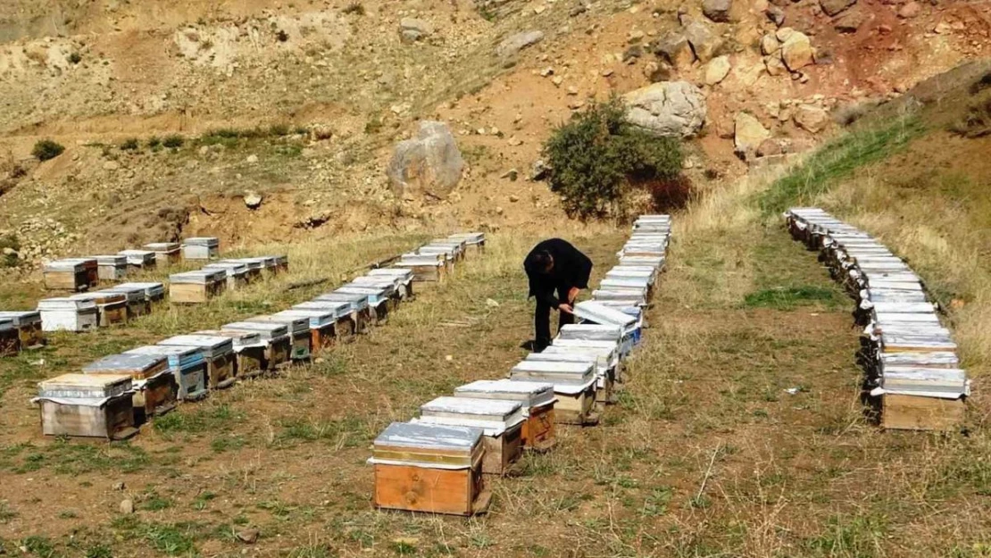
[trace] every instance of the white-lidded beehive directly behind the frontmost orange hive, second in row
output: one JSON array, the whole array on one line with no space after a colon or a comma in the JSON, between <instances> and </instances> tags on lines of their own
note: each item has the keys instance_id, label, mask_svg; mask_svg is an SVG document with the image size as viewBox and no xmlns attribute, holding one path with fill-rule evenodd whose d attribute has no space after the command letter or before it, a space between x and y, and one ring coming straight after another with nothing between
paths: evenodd
<instances>
[{"instance_id":1,"label":"white-lidded beehive directly behind the frontmost orange hive, second in row","mask_svg":"<svg viewBox=\"0 0 991 558\"><path fill-rule=\"evenodd\" d=\"M519 401L493 398L437 397L420 405L418 422L482 428L486 446L482 472L505 475L521 452L526 415Z\"/></svg>"}]
</instances>

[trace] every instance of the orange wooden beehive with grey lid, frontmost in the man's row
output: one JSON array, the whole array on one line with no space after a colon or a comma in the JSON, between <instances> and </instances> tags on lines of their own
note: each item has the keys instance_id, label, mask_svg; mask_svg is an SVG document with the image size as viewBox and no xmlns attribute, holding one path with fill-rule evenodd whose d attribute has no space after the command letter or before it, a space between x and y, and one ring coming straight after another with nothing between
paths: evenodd
<instances>
[{"instance_id":1,"label":"orange wooden beehive with grey lid, frontmost in the man's row","mask_svg":"<svg viewBox=\"0 0 991 558\"><path fill-rule=\"evenodd\" d=\"M482 429L393 422L376 438L375 504L388 509L475 515L492 493L482 475Z\"/></svg>"}]
</instances>

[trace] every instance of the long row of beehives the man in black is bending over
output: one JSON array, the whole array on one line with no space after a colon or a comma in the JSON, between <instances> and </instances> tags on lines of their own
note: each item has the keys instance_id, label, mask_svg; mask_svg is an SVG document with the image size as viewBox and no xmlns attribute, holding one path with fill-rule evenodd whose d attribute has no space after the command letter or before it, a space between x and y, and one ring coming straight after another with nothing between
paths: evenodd
<instances>
[{"instance_id":1,"label":"long row of beehives the man in black is bending over","mask_svg":"<svg viewBox=\"0 0 991 558\"><path fill-rule=\"evenodd\" d=\"M491 500L484 475L510 471L524 449L554 445L555 424L598 423L639 342L643 311L664 266L670 217L641 216L595 300L574 310L551 345L507 379L474 382L438 397L375 440L375 502L383 508L472 515Z\"/></svg>"}]
</instances>

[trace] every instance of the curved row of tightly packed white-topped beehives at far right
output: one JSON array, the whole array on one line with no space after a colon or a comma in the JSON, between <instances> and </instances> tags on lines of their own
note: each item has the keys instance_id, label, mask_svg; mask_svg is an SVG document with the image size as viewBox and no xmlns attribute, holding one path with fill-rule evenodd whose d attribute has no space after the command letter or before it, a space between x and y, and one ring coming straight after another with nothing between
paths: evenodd
<instances>
[{"instance_id":1,"label":"curved row of tightly packed white-topped beehives at far right","mask_svg":"<svg viewBox=\"0 0 991 558\"><path fill-rule=\"evenodd\" d=\"M945 429L959 423L970 383L922 280L867 233L822 209L786 214L792 235L820 250L834 279L856 299L865 327L865 387L886 428Z\"/></svg>"}]
</instances>

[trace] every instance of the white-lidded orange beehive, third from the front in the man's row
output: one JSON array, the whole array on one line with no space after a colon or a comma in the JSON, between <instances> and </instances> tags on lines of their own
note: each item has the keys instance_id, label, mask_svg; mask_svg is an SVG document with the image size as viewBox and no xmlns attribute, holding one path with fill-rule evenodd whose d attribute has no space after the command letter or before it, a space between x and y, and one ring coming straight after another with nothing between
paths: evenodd
<instances>
[{"instance_id":1,"label":"white-lidded orange beehive, third from the front in the man's row","mask_svg":"<svg viewBox=\"0 0 991 558\"><path fill-rule=\"evenodd\" d=\"M480 380L455 388L454 396L481 399L504 399L522 405L520 437L524 449L547 451L554 447L554 385L545 382L514 380Z\"/></svg>"}]
</instances>

